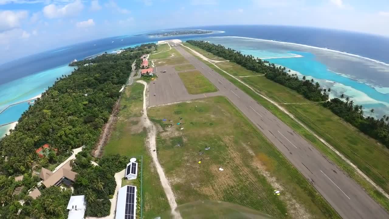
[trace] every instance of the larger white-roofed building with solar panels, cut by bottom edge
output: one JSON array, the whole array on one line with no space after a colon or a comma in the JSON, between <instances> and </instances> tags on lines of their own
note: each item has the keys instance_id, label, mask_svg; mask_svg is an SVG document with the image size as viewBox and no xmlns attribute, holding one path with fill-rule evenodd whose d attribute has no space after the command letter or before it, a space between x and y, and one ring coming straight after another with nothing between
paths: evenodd
<instances>
[{"instance_id":1,"label":"larger white-roofed building with solar panels, cut by bottom edge","mask_svg":"<svg viewBox=\"0 0 389 219\"><path fill-rule=\"evenodd\" d=\"M135 219L137 210L137 187L126 185L119 189L115 219Z\"/></svg>"}]
</instances>

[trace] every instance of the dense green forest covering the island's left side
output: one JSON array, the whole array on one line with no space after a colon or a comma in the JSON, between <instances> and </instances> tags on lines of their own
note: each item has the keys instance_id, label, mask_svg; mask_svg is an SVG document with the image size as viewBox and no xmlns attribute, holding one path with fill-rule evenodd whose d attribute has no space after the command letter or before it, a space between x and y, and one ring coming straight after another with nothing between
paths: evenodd
<instances>
[{"instance_id":1,"label":"dense green forest covering the island's left side","mask_svg":"<svg viewBox=\"0 0 389 219\"><path fill-rule=\"evenodd\" d=\"M33 172L39 172L41 167L53 170L72 149L81 146L84 146L82 152L72 162L73 171L78 173L75 194L86 194L89 203L93 203L88 208L91 216L109 214L108 199L116 187L114 174L127 164L128 158L109 155L101 159L100 166L93 166L90 153L130 75L131 64L153 46L142 44L120 54L74 62L71 65L79 66L77 70L59 78L30 105L11 134L0 140L1 218L67 218L70 189L61 192L59 187L41 185L42 195L36 200L26 194L40 181L35 174L32 176ZM88 63L93 64L84 66ZM39 157L35 150L45 143L50 145L48 155ZM15 182L12 176L21 174L23 180ZM22 185L21 193L14 195L15 187ZM23 199L26 204L21 207L18 200ZM22 211L17 215L19 209Z\"/></svg>"}]
</instances>

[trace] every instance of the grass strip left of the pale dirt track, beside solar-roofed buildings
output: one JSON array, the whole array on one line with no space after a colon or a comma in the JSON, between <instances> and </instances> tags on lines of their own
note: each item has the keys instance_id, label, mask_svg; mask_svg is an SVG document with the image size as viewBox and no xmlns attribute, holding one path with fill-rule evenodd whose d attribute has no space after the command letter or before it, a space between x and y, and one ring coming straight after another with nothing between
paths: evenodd
<instances>
[{"instance_id":1,"label":"grass strip left of the pale dirt track, beside solar-roofed buildings","mask_svg":"<svg viewBox=\"0 0 389 219\"><path fill-rule=\"evenodd\" d=\"M152 164L149 150L144 143L147 132L140 121L143 89L144 86L140 83L134 83L125 88L120 100L117 122L107 145L104 147L104 154L121 154L138 158L143 155L143 216L144 218L154 218L170 207L159 181L158 173ZM138 172L140 173L140 170ZM140 193L138 178L122 182L124 185L137 185Z\"/></svg>"}]
</instances>

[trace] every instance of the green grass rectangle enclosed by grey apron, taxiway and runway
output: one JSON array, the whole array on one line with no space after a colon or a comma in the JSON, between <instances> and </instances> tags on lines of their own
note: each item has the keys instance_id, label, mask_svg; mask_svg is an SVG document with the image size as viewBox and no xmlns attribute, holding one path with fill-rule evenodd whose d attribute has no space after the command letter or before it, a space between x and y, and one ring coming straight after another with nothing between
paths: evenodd
<instances>
[{"instance_id":1,"label":"green grass rectangle enclosed by grey apron, taxiway and runway","mask_svg":"<svg viewBox=\"0 0 389 219\"><path fill-rule=\"evenodd\" d=\"M217 88L199 71L178 73L189 94L216 92Z\"/></svg>"}]
</instances>

